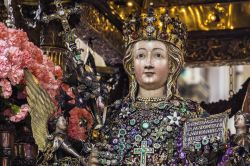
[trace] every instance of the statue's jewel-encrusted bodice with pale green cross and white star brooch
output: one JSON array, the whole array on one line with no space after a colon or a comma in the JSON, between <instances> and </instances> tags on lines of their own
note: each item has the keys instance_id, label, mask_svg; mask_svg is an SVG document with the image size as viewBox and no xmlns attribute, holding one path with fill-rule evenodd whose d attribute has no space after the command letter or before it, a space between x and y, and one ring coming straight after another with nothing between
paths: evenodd
<instances>
[{"instance_id":1,"label":"statue's jewel-encrusted bodice with pale green cross and white star brooch","mask_svg":"<svg viewBox=\"0 0 250 166\"><path fill-rule=\"evenodd\" d=\"M182 132L186 119L201 113L196 103L117 101L103 132L114 145L120 165L185 164Z\"/></svg>"}]
</instances>

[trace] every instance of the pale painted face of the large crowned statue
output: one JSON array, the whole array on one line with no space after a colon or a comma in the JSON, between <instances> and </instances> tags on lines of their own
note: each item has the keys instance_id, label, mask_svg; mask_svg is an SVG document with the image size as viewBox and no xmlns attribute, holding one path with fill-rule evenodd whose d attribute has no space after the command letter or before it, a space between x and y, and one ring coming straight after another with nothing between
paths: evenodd
<instances>
[{"instance_id":1,"label":"pale painted face of the large crowned statue","mask_svg":"<svg viewBox=\"0 0 250 166\"><path fill-rule=\"evenodd\" d=\"M154 90L164 86L168 77L167 48L157 40L142 40L133 49L136 80L144 89Z\"/></svg>"}]
</instances>

